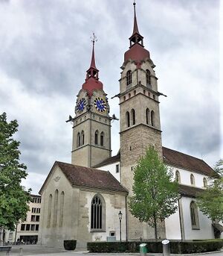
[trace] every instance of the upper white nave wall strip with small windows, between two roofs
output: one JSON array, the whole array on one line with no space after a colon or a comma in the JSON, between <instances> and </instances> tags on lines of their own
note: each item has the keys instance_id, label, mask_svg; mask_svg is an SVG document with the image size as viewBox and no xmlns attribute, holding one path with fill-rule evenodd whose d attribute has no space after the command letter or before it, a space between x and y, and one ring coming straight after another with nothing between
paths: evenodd
<instances>
[{"instance_id":1,"label":"upper white nave wall strip with small windows, between two roofs","mask_svg":"<svg viewBox=\"0 0 223 256\"><path fill-rule=\"evenodd\" d=\"M187 171L185 169L176 168L176 167L172 167L172 166L169 166L169 168L172 170L173 178L175 178L175 172L177 170L178 170L178 172L180 172L181 184L183 184L183 185L191 186L191 184L190 184L190 175L191 174L193 174L193 176L195 178L195 187L204 188L203 178L207 179L207 184L208 184L208 176L207 175L202 175L202 174L199 174L196 172Z\"/></svg>"}]
</instances>

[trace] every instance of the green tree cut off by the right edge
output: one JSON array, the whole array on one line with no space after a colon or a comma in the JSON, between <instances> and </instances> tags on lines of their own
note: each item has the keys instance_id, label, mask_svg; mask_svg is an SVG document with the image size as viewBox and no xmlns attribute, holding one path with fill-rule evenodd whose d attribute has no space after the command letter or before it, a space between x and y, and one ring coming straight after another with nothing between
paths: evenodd
<instances>
[{"instance_id":1,"label":"green tree cut off by the right edge","mask_svg":"<svg viewBox=\"0 0 223 256\"><path fill-rule=\"evenodd\" d=\"M223 220L223 160L219 160L214 166L218 173L211 177L207 189L198 197L198 207L201 212L213 221Z\"/></svg>"}]
</instances>

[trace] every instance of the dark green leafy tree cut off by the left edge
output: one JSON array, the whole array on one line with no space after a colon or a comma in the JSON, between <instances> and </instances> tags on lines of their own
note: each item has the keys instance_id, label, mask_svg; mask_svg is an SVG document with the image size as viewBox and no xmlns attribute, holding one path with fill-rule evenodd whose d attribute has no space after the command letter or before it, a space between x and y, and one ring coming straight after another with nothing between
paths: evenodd
<instances>
[{"instance_id":1,"label":"dark green leafy tree cut off by the left edge","mask_svg":"<svg viewBox=\"0 0 223 256\"><path fill-rule=\"evenodd\" d=\"M19 163L19 142L13 139L18 130L16 120L7 122L6 113L0 115L0 233L14 230L19 219L25 219L29 210L30 190L21 185L28 173Z\"/></svg>"}]
</instances>

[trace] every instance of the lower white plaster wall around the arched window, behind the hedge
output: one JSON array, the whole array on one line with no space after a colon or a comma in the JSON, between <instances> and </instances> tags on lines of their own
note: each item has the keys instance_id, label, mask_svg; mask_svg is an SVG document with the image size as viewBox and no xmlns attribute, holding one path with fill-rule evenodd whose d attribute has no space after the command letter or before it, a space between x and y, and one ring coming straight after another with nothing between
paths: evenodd
<instances>
[{"instance_id":1,"label":"lower white plaster wall around the arched window, behind the hedge","mask_svg":"<svg viewBox=\"0 0 223 256\"><path fill-rule=\"evenodd\" d=\"M183 216L184 216L184 231L185 231L185 239L210 239L214 238L213 227L210 219L207 216L204 216L200 210L198 210L198 219L199 219L199 228L198 230L194 230L191 227L191 219L190 219L190 202L195 201L189 197L182 197L182 208L183 208Z\"/></svg>"}]
</instances>

